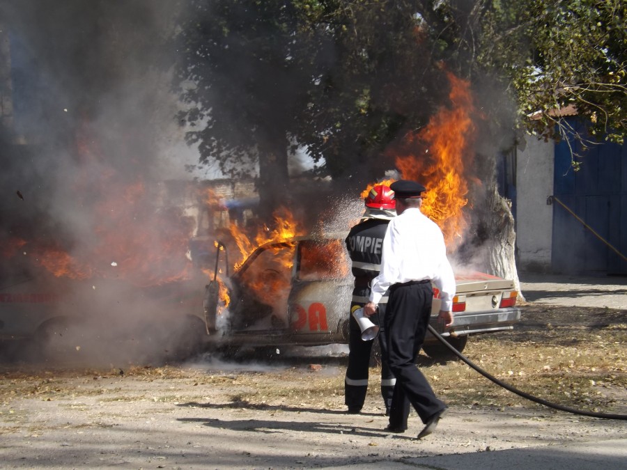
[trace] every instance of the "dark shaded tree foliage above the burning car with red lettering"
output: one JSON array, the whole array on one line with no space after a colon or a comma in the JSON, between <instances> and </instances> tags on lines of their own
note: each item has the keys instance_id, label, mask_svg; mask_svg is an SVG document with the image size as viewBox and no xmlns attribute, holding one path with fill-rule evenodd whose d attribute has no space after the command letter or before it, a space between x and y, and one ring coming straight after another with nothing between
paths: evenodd
<instances>
[{"instance_id":1,"label":"dark shaded tree foliage above the burning car with red lettering","mask_svg":"<svg viewBox=\"0 0 627 470\"><path fill-rule=\"evenodd\" d=\"M296 146L334 176L378 162L447 93L415 3L192 2L178 68L189 104L180 118L196 126L188 142L233 176L258 163L261 191L270 176L287 180Z\"/></svg>"}]
</instances>

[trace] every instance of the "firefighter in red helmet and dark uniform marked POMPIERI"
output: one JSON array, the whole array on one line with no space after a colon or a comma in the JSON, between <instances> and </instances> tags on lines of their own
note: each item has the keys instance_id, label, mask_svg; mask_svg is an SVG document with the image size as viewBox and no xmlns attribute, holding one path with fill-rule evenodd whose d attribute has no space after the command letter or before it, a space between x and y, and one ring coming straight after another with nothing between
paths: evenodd
<instances>
[{"instance_id":1,"label":"firefighter in red helmet and dark uniform marked POMPIERI","mask_svg":"<svg viewBox=\"0 0 627 470\"><path fill-rule=\"evenodd\" d=\"M396 201L394 191L385 185L375 185L369 191L365 200L365 211L359 224L350 229L346 237L346 247L352 261L355 286L353 299L350 304L350 312L363 307L369 300L370 281L378 276L381 267L381 249L387 224L396 215ZM384 296L379 301L379 315L373 315L370 320L380 327L378 338L381 350L381 395L385 402L385 414L389 415L389 407L392 405L394 384L396 379L387 366L387 350L385 342L385 329L383 329L383 315L385 314ZM370 355L375 340L362 340L362 332L357 320L349 315L348 338L348 368L344 381L344 401L348 407L348 413L361 412L366 400L368 389L368 373L370 367Z\"/></svg>"}]
</instances>

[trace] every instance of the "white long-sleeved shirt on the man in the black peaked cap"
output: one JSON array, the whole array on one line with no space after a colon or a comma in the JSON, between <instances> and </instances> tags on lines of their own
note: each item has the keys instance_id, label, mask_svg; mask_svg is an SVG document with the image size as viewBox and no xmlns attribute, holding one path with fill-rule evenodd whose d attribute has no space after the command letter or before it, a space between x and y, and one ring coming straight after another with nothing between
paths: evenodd
<instances>
[{"instance_id":1,"label":"white long-sleeved shirt on the man in the black peaked cap","mask_svg":"<svg viewBox=\"0 0 627 470\"><path fill-rule=\"evenodd\" d=\"M440 310L451 311L456 285L442 230L417 207L408 207L387 226L370 300L378 304L393 284L425 279L440 289Z\"/></svg>"}]
</instances>

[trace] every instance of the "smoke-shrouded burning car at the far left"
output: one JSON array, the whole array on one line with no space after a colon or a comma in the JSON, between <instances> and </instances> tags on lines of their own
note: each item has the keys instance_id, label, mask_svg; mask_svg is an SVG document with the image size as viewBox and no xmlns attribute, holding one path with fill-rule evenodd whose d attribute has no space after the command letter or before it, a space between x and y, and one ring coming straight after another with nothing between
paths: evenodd
<instances>
[{"instance_id":1,"label":"smoke-shrouded burning car at the far left","mask_svg":"<svg viewBox=\"0 0 627 470\"><path fill-rule=\"evenodd\" d=\"M0 358L178 358L205 339L206 276L138 288L57 277L31 263L0 267ZM139 358L139 359L138 359Z\"/></svg>"}]
</instances>

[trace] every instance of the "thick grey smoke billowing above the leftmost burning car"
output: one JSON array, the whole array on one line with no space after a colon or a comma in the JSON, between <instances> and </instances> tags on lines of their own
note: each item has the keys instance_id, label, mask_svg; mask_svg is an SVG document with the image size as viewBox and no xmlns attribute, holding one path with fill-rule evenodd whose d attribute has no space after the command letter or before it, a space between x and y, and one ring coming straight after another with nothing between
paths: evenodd
<instances>
[{"instance_id":1,"label":"thick grey smoke billowing above the leftmost burning car","mask_svg":"<svg viewBox=\"0 0 627 470\"><path fill-rule=\"evenodd\" d=\"M36 322L43 313L28 299L49 295L59 315L93 314L104 350L91 357L104 363L151 335L159 354L173 347L178 333L157 331L156 321L152 331L133 328L183 310L176 292L150 289L190 276L193 221L184 191L164 183L189 178L185 163L198 158L182 157L190 150L174 120L165 41L174 5L0 5L0 308ZM75 350L85 352L89 340L76 336Z\"/></svg>"}]
</instances>

